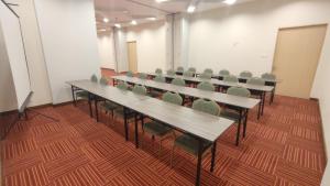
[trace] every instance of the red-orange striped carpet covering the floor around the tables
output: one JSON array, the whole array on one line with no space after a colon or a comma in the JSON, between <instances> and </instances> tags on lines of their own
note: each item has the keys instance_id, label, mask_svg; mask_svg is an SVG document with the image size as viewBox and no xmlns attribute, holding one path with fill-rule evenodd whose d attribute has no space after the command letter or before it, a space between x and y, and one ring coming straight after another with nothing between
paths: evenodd
<instances>
[{"instance_id":1,"label":"red-orange striped carpet covering the floor around the tables","mask_svg":"<svg viewBox=\"0 0 330 186\"><path fill-rule=\"evenodd\" d=\"M167 186L194 185L196 158L176 150L169 167L172 140L163 143L145 135L136 150L133 128L124 141L122 121L113 127L89 118L86 102L48 107L37 111L59 122L30 112L2 141L6 186ZM133 127L133 124L131 124ZM250 113L248 136L234 145L235 125L218 140L216 169L210 155L202 162L202 185L294 186L319 185L324 169L324 149L318 105L315 101L276 97L257 121Z\"/></svg>"}]
</instances>

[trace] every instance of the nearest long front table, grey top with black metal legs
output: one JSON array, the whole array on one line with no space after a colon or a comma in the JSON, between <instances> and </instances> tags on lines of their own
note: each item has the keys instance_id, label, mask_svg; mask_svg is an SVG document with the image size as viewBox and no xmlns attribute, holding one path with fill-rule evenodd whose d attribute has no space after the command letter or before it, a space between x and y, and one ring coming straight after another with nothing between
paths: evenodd
<instances>
[{"instance_id":1,"label":"nearest long front table, grey top with black metal legs","mask_svg":"<svg viewBox=\"0 0 330 186\"><path fill-rule=\"evenodd\" d=\"M109 100L135 112L135 147L139 149L139 128L138 113L157 120L176 130L185 132L198 141L197 173L195 185L200 185L200 171L202 152L207 146L206 141L212 144L212 157L210 171L212 172L216 163L217 140L234 121L212 116L191 108L177 106L148 96L142 96L129 90L120 90L112 86L105 86L91 80L67 81L74 91L85 90L94 97ZM90 98L90 97L89 97ZM97 103L96 114L98 116ZM124 124L128 130L128 124Z\"/></svg>"}]
</instances>

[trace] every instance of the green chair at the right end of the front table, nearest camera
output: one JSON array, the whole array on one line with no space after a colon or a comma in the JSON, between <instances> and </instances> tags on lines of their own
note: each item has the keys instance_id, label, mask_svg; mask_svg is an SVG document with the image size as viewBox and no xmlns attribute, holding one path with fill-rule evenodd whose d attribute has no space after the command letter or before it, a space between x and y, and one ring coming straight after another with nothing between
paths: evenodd
<instances>
[{"instance_id":1,"label":"green chair at the right end of the front table, nearest camera","mask_svg":"<svg viewBox=\"0 0 330 186\"><path fill-rule=\"evenodd\" d=\"M201 112L206 112L209 114L213 114L213 116L219 116L221 112L221 108L215 101L206 100L206 99L198 99L198 100L194 101L193 109L201 111ZM176 138L174 141L173 147L172 147L172 152L170 152L170 167L173 167L174 150L176 146L197 156L198 155L198 144L199 144L198 140L188 134L183 134L183 135ZM202 155L206 155L207 154L206 152L208 150L210 150L210 147L213 145L213 143L204 140L202 144L204 144ZM211 171L212 171L212 166L211 166Z\"/></svg>"}]
</instances>

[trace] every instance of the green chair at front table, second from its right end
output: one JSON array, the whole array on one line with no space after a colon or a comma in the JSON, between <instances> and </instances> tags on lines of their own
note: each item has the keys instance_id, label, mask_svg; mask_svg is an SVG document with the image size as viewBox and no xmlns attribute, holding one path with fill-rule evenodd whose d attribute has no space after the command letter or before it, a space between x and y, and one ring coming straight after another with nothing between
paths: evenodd
<instances>
[{"instance_id":1,"label":"green chair at front table, second from its right end","mask_svg":"<svg viewBox=\"0 0 330 186\"><path fill-rule=\"evenodd\" d=\"M163 95L162 99L163 99L163 101L170 102L170 103L178 105L178 106L180 106L183 103L183 98L176 92L167 91ZM161 153L161 150L162 150L162 142L167 136L169 136L168 134L173 134L173 136L175 139L174 130L158 121L151 121L151 122L144 123L143 135L144 135L144 133L150 133L152 136L160 138L158 154ZM141 143L141 145L142 144L143 144L143 142Z\"/></svg>"}]
</instances>

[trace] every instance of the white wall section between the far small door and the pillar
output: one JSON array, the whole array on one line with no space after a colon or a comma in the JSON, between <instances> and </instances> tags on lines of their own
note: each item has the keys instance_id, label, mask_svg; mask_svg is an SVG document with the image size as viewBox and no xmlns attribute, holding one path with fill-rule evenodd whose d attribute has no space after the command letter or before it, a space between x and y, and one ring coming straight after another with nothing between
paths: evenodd
<instances>
[{"instance_id":1,"label":"white wall section between the far small door and the pillar","mask_svg":"<svg viewBox=\"0 0 330 186\"><path fill-rule=\"evenodd\" d=\"M166 70L166 26L164 21L127 29L127 41L136 41L138 70Z\"/></svg>"}]
</instances>

